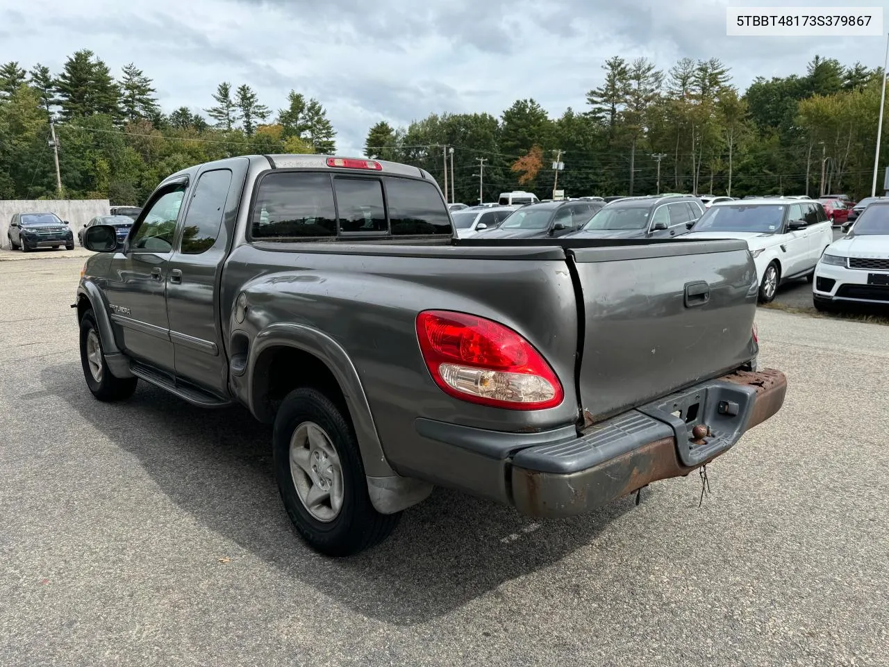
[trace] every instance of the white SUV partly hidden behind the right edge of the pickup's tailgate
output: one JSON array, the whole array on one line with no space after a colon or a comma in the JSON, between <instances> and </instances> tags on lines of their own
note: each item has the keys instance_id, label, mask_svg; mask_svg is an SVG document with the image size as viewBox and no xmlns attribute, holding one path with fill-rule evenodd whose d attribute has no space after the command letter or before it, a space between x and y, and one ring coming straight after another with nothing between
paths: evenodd
<instances>
[{"instance_id":1,"label":"white SUV partly hidden behind the right edge of the pickup's tailgate","mask_svg":"<svg viewBox=\"0 0 889 667\"><path fill-rule=\"evenodd\" d=\"M763 303L774 299L783 282L800 277L811 281L821 253L833 242L821 204L787 198L714 204L688 236L747 241Z\"/></svg>"}]
</instances>

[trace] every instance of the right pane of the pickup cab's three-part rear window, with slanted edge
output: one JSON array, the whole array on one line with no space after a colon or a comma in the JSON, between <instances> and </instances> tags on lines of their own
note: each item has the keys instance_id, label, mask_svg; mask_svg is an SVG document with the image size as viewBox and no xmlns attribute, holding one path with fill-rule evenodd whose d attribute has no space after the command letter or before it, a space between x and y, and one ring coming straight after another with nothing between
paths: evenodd
<instances>
[{"instance_id":1,"label":"right pane of the pickup cab's three-part rear window, with slanted edge","mask_svg":"<svg viewBox=\"0 0 889 667\"><path fill-rule=\"evenodd\" d=\"M393 236L406 234L451 236L451 219L432 183L387 177L386 203Z\"/></svg>"}]
</instances>

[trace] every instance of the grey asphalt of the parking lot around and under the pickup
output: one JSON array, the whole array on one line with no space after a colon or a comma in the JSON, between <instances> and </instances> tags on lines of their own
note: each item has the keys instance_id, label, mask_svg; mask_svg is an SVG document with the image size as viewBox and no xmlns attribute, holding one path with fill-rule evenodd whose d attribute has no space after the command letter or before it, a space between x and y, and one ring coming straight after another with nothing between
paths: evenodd
<instances>
[{"instance_id":1,"label":"grey asphalt of the parking lot around and under the pickup","mask_svg":"<svg viewBox=\"0 0 889 667\"><path fill-rule=\"evenodd\" d=\"M889 664L889 327L760 309L781 412L701 479L565 520L436 489L326 559L270 430L94 400L83 260L0 263L0 664Z\"/></svg>"}]
</instances>

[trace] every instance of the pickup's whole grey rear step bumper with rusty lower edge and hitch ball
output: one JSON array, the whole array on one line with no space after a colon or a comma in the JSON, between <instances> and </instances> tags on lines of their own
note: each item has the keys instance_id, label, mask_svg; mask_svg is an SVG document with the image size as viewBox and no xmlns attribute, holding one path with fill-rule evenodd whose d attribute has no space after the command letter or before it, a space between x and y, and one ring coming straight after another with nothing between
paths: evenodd
<instances>
[{"instance_id":1,"label":"pickup's whole grey rear step bumper with rusty lower edge and hitch ball","mask_svg":"<svg viewBox=\"0 0 889 667\"><path fill-rule=\"evenodd\" d=\"M469 472L467 466L475 459L475 474L455 486L498 497L535 517L581 514L659 479L687 475L725 454L746 430L781 409L786 390L781 371L738 371L599 422L581 437L563 429L549 440L545 433L534 434L535 443L530 444L527 436L513 434L516 448L498 465L490 459L500 448L493 443L508 434L497 433L495 438L493 431L478 431L469 437L464 427L456 427L462 430L460 441L447 444L461 449L463 470ZM697 424L709 426L709 436L693 439ZM431 432L428 425L423 430ZM446 429L436 430L436 439L451 439ZM486 448L486 440L492 446ZM469 447L477 456L468 455ZM491 479L480 476L481 470L489 470ZM505 484L498 484L499 476ZM467 484L467 478L474 484ZM493 494L497 486L501 493Z\"/></svg>"}]
</instances>

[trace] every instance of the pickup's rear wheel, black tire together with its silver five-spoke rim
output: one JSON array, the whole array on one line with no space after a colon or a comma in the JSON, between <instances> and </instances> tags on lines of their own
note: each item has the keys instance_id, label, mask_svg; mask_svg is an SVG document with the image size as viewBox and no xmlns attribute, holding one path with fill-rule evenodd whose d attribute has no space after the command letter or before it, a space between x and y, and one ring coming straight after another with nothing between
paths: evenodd
<instances>
[{"instance_id":1,"label":"pickup's rear wheel, black tire together with its silver five-spoke rim","mask_svg":"<svg viewBox=\"0 0 889 667\"><path fill-rule=\"evenodd\" d=\"M348 556L395 529L400 513L373 509L352 425L322 392L303 387L287 394L272 438L284 509L313 549Z\"/></svg>"}]
</instances>

